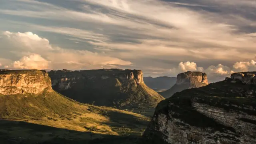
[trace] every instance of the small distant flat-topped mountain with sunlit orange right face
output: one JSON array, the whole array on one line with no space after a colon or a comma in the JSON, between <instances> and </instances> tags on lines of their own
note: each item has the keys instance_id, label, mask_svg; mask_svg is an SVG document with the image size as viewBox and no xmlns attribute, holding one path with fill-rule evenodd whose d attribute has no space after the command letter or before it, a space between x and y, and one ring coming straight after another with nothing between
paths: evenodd
<instances>
[{"instance_id":1,"label":"small distant flat-topped mountain with sunlit orange right face","mask_svg":"<svg viewBox=\"0 0 256 144\"><path fill-rule=\"evenodd\" d=\"M164 96L164 98L169 98L176 92L181 92L182 90L190 88L200 88L206 85L208 85L206 73L188 71L178 74L176 84L169 90L159 92L159 94Z\"/></svg>"}]
</instances>

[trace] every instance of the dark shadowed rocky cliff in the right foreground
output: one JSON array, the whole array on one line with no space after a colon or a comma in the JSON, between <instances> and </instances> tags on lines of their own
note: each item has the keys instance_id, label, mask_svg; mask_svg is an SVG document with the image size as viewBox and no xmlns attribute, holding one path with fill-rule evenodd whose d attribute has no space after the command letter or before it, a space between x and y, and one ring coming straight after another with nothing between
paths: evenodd
<instances>
[{"instance_id":1,"label":"dark shadowed rocky cliff in the right foreground","mask_svg":"<svg viewBox=\"0 0 256 144\"><path fill-rule=\"evenodd\" d=\"M163 100L144 133L145 144L256 144L252 74L232 74ZM251 83L245 80L248 77Z\"/></svg>"}]
</instances>

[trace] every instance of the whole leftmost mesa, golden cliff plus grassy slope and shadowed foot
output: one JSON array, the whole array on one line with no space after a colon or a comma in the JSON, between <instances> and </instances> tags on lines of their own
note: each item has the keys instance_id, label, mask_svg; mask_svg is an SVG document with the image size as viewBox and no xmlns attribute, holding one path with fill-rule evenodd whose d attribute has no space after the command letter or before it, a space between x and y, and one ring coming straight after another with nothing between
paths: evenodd
<instances>
[{"instance_id":1,"label":"whole leftmost mesa, golden cliff plus grassy slope and shadowed foot","mask_svg":"<svg viewBox=\"0 0 256 144\"><path fill-rule=\"evenodd\" d=\"M1 90L17 93L0 91L1 144L126 144L136 142L149 122L140 114L66 98L52 90L43 71L0 72L2 81Z\"/></svg>"}]
</instances>

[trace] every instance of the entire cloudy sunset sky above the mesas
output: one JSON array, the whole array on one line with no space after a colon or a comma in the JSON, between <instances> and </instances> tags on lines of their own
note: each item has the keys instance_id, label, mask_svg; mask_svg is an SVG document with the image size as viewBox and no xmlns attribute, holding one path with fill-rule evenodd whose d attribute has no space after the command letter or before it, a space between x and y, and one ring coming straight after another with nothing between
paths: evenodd
<instances>
[{"instance_id":1,"label":"entire cloudy sunset sky above the mesas","mask_svg":"<svg viewBox=\"0 0 256 144\"><path fill-rule=\"evenodd\" d=\"M0 0L0 68L256 71L256 0Z\"/></svg>"}]
</instances>

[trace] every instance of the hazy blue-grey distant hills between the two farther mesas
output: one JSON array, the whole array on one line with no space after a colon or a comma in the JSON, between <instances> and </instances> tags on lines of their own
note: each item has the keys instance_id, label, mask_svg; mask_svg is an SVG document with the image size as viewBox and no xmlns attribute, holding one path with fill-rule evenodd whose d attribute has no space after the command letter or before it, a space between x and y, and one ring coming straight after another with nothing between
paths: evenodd
<instances>
[{"instance_id":1,"label":"hazy blue-grey distant hills between the two farther mesas","mask_svg":"<svg viewBox=\"0 0 256 144\"><path fill-rule=\"evenodd\" d=\"M176 83L176 77L160 76L156 78L144 77L144 83L157 92L170 89Z\"/></svg>"}]
</instances>

